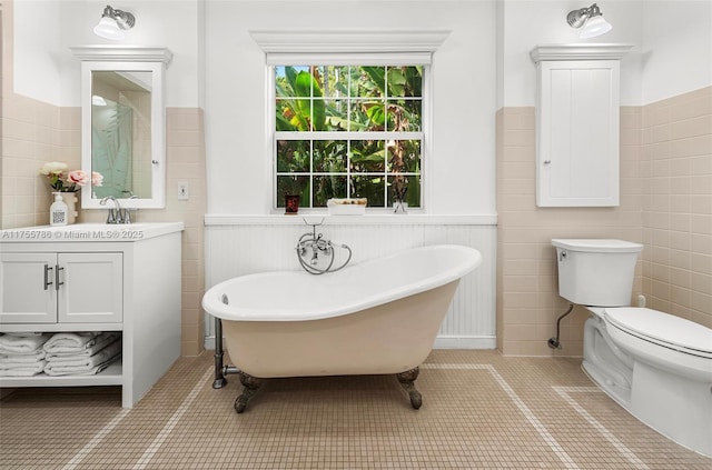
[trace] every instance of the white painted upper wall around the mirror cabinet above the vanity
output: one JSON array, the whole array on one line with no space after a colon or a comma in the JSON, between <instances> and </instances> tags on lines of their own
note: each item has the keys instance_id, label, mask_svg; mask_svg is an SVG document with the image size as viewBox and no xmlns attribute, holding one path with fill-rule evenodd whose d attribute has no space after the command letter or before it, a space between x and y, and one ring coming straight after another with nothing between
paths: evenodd
<instances>
[{"instance_id":1,"label":"white painted upper wall around the mirror cabinet above the vanity","mask_svg":"<svg viewBox=\"0 0 712 470\"><path fill-rule=\"evenodd\" d=\"M14 91L57 106L79 107L80 62L70 47L157 46L174 52L166 72L166 106L197 107L199 1L109 2L136 17L126 40L111 41L92 32L107 0L14 0Z\"/></svg>"}]
</instances>

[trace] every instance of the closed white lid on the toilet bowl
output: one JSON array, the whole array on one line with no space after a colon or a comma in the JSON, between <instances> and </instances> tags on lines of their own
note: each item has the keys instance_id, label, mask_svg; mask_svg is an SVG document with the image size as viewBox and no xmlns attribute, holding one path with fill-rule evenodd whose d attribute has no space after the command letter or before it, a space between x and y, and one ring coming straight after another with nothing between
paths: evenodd
<instances>
[{"instance_id":1,"label":"closed white lid on the toilet bowl","mask_svg":"<svg viewBox=\"0 0 712 470\"><path fill-rule=\"evenodd\" d=\"M712 359L712 329L681 317L645 308L606 308L604 318L641 339Z\"/></svg>"}]
</instances>

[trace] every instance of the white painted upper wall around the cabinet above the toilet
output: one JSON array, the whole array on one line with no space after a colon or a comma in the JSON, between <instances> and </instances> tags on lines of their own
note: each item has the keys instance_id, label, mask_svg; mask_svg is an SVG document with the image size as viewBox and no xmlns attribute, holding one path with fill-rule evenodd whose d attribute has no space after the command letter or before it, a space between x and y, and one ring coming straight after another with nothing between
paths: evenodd
<instances>
[{"instance_id":1,"label":"white painted upper wall around the cabinet above the toilet","mask_svg":"<svg viewBox=\"0 0 712 470\"><path fill-rule=\"evenodd\" d=\"M712 1L597 1L613 24L605 36L580 39L566 14L581 0L503 0L505 107L533 107L535 44L619 42L633 44L621 61L621 104L647 104L712 84Z\"/></svg>"}]
</instances>

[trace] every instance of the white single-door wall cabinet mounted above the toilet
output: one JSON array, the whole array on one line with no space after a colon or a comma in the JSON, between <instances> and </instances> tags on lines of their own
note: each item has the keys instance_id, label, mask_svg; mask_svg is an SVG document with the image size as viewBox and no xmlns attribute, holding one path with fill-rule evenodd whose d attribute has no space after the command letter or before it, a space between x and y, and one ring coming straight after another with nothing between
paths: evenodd
<instances>
[{"instance_id":1,"label":"white single-door wall cabinet mounted above the toilet","mask_svg":"<svg viewBox=\"0 0 712 470\"><path fill-rule=\"evenodd\" d=\"M620 203L620 60L609 50L589 49L587 54L581 44L532 51L538 84L538 207ZM575 60L564 60L572 56Z\"/></svg>"}]
</instances>

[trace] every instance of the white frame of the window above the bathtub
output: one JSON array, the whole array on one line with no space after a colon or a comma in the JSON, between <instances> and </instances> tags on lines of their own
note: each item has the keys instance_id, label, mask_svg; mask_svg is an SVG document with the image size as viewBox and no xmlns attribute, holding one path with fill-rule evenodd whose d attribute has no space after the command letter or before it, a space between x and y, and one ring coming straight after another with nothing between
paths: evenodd
<instances>
[{"instance_id":1,"label":"white frame of the window above the bathtub","mask_svg":"<svg viewBox=\"0 0 712 470\"><path fill-rule=\"evenodd\" d=\"M426 191L426 181L427 181L427 169L428 169L428 164L427 164L427 156L429 154L429 149L428 149L428 134L429 132L432 132L432 119L431 119L431 109L432 109L432 99L431 99L431 94L432 94L432 89L431 89L431 73L432 73L432 67L431 67L431 58L429 54L424 56L424 54L388 54L387 57L384 57L384 54L340 54L338 58L334 57L332 54L329 54L328 58L323 57L322 54L317 54L316 59L315 59L315 54L309 54L309 59L310 61L314 60L319 60L319 62L305 62L304 60L301 60L300 58L305 57L304 54L279 54L279 56L273 56L270 58L268 58L268 64L267 64L267 73L269 77L268 80L268 86L269 86L269 93L268 93L268 122L269 122L269 141L270 141L270 151L269 151L269 156L270 156L270 184L269 184L269 201L270 201L270 211L273 213L279 212L281 210L284 210L283 207L279 207L279 201L278 201L278 194L277 194L277 179L279 176L278 169L277 169L277 142L281 141L281 140L300 140L300 141L313 141L313 140L344 140L347 141L347 147L350 149L350 142L353 141L358 141L358 140L370 140L370 139L365 139L365 138L373 138L373 140L383 140L383 141L388 141L388 140L417 140L419 142L419 173L418 173L418 178L421 180L421 198L419 198L419 206L418 207L414 207L414 208L409 208L411 210L414 211L418 211L418 212L423 212L426 208L426 201L427 201L427 191ZM370 58L370 59L368 59ZM286 61L287 63L277 63L278 60L281 61ZM329 63L323 63L323 60L329 60ZM367 60L366 63L359 62L357 63L358 60ZM417 63L411 63L409 61L416 61ZM408 62L406 62L408 61ZM285 66L300 66L300 67L310 67L310 66L317 66L317 67L327 67L327 66L375 66L375 67L402 67L402 66L406 66L406 67L422 67L422 84L421 84L421 89L422 89L422 96L419 97L419 102L421 102L421 130L419 131L405 131L405 132L398 132L398 131L378 131L378 132L372 132L372 136L369 136L368 132L359 132L359 131L304 131L304 132L299 132L299 131L277 131L276 130L276 68L277 67L285 67ZM319 137L319 139L314 139L315 137ZM349 160L349 154L347 153L347 161L345 164L345 173L339 173L339 174L345 174L347 176L347 178L353 177L353 176L369 176L370 172L355 172L352 173L350 172L350 160ZM307 177L309 178L309 184L313 184L314 179L318 178L323 172L319 171L314 171L314 169L310 169L310 171L307 172L299 172L297 173L297 176L303 176L303 177ZM284 174L283 174L284 176ZM386 178L386 180L390 177L388 169L384 169L384 172L378 172L373 173L370 176L383 176L384 178ZM411 176L411 174L406 174L406 176ZM313 187L312 187L313 188ZM312 194L312 201L309 201L309 204L303 204L303 207L299 208L300 211L314 211L314 212L320 212L320 211L326 211L327 208L326 207L310 207L310 203L314 201L314 191L310 191ZM377 206L377 207L372 207L368 206L367 210L369 212L373 211L385 211L385 212L389 212L393 211L393 209L390 209L388 206L388 194L387 194L387 184L384 188L384 206Z\"/></svg>"}]
</instances>

